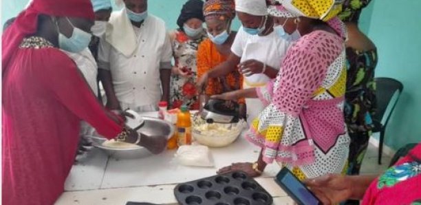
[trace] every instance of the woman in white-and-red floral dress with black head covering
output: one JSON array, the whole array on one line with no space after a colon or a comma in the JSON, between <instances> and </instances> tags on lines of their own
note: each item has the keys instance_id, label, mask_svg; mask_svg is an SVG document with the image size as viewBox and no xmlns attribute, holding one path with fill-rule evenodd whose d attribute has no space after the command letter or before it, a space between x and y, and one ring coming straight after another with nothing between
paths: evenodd
<instances>
[{"instance_id":1,"label":"woman in white-and-red floral dress with black head covering","mask_svg":"<svg viewBox=\"0 0 421 205\"><path fill-rule=\"evenodd\" d=\"M202 8L201 0L187 1L177 19L179 28L171 33L175 66L172 69L169 103L173 108L188 105L191 109L199 109L195 78L197 47L206 39Z\"/></svg>"}]
</instances>

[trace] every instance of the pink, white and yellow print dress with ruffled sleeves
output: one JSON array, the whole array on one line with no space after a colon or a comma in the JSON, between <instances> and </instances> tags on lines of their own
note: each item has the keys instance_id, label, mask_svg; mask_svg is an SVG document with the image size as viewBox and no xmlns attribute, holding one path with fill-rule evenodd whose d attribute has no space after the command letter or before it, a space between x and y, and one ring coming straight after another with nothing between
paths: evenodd
<instances>
[{"instance_id":1,"label":"pink, white and yellow print dress with ruffled sleeves","mask_svg":"<svg viewBox=\"0 0 421 205\"><path fill-rule=\"evenodd\" d=\"M257 89L267 105L246 138L263 148L263 160L288 166L300 180L343 173L349 137L343 120L345 44L315 31L288 50L282 72Z\"/></svg>"}]
</instances>

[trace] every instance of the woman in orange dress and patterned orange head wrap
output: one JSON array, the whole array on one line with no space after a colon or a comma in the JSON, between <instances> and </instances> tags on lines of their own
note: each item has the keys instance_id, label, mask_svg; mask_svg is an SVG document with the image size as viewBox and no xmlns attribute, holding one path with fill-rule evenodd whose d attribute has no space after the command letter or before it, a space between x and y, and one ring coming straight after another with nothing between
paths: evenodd
<instances>
[{"instance_id":1,"label":"woman in orange dress and patterned orange head wrap","mask_svg":"<svg viewBox=\"0 0 421 205\"><path fill-rule=\"evenodd\" d=\"M235 17L234 0L212 0L206 1L204 16L208 37L199 45L197 51L197 77L202 78L206 72L224 63L230 55L230 48L233 45L237 32L231 30L231 22ZM204 89L206 101L208 96L222 94L242 88L243 76L236 66L232 67L233 72L219 78L210 78ZM201 102L203 105L204 102ZM240 101L241 112L246 116L244 99Z\"/></svg>"}]
</instances>

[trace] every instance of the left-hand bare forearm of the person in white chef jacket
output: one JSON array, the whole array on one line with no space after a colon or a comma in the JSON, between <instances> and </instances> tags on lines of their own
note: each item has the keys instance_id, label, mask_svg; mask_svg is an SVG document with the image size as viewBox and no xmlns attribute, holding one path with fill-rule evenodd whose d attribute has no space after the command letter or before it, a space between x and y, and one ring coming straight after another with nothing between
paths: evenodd
<instances>
[{"instance_id":1,"label":"left-hand bare forearm of the person in white chef jacket","mask_svg":"<svg viewBox=\"0 0 421 205\"><path fill-rule=\"evenodd\" d=\"M111 72L106 69L98 69L98 76L102 82L102 86L105 89L105 95L107 96L107 105L108 109L120 110L120 102L116 97L116 92L114 91L113 78Z\"/></svg>"}]
</instances>

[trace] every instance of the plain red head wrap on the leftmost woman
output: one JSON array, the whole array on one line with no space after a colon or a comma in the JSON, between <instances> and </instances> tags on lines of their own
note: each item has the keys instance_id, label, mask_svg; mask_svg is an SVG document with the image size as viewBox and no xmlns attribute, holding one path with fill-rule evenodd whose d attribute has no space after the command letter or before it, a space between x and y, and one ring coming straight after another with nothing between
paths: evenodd
<instances>
[{"instance_id":1,"label":"plain red head wrap on the leftmost woman","mask_svg":"<svg viewBox=\"0 0 421 205\"><path fill-rule=\"evenodd\" d=\"M34 0L1 36L2 73L7 69L10 59L23 38L36 32L39 14L54 17L79 17L91 21L95 19L94 9L89 0Z\"/></svg>"}]
</instances>

